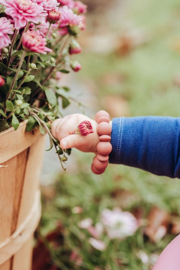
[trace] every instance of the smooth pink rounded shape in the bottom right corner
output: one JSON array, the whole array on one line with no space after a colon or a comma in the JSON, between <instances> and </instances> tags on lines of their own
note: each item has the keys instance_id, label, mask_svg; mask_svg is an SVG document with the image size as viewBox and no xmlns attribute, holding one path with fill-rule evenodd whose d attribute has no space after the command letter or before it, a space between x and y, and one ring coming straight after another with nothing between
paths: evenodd
<instances>
[{"instance_id":1,"label":"smooth pink rounded shape in the bottom right corner","mask_svg":"<svg viewBox=\"0 0 180 270\"><path fill-rule=\"evenodd\" d=\"M180 270L180 235L163 250L153 270Z\"/></svg>"}]
</instances>

